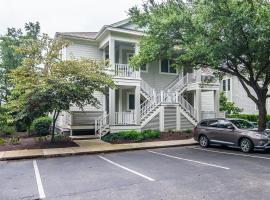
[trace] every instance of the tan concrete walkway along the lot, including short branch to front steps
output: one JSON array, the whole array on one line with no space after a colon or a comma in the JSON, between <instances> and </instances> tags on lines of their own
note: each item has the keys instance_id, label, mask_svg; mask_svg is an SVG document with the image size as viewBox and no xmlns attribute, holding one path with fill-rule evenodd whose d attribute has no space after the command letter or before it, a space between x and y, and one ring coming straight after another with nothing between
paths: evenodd
<instances>
[{"instance_id":1,"label":"tan concrete walkway along the lot, including short branch to front steps","mask_svg":"<svg viewBox=\"0 0 270 200\"><path fill-rule=\"evenodd\" d=\"M193 139L129 143L129 144L109 144L99 139L76 140L74 142L76 142L79 145L79 147L2 151L0 152L0 161L26 159L26 158L48 158L56 156L108 153L116 151L188 146L197 144L197 142Z\"/></svg>"}]
</instances>

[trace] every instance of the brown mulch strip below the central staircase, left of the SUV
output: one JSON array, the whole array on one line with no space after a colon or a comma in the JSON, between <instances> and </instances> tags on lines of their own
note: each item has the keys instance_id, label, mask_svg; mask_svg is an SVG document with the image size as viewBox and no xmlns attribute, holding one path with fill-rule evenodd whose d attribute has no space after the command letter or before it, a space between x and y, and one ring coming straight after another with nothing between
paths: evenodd
<instances>
[{"instance_id":1,"label":"brown mulch strip below the central staircase, left of the SUV","mask_svg":"<svg viewBox=\"0 0 270 200\"><path fill-rule=\"evenodd\" d=\"M187 140L193 138L192 133L183 133L183 132L161 132L160 138L155 139L146 139L140 142L156 142L156 141L168 141L168 140ZM124 140L124 141L112 141L112 144L125 144L125 143L135 143L133 140Z\"/></svg>"}]
</instances>

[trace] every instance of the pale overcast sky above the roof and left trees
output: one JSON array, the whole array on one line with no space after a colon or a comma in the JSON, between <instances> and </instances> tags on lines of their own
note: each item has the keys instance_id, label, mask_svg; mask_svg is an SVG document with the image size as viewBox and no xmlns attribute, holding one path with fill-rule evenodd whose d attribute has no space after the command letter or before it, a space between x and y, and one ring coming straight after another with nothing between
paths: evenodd
<instances>
[{"instance_id":1,"label":"pale overcast sky above the roof and left trees","mask_svg":"<svg viewBox=\"0 0 270 200\"><path fill-rule=\"evenodd\" d=\"M51 36L64 31L98 31L103 25L127 18L142 0L0 0L0 34L39 21Z\"/></svg>"}]
</instances>

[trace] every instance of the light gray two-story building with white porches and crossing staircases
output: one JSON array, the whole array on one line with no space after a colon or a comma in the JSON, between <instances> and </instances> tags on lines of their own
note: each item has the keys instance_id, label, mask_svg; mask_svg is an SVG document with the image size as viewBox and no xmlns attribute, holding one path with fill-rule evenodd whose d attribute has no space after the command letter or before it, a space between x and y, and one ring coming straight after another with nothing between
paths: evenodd
<instances>
[{"instance_id":1,"label":"light gray two-story building with white porches and crossing staircases","mask_svg":"<svg viewBox=\"0 0 270 200\"><path fill-rule=\"evenodd\" d=\"M101 105L72 106L57 121L61 131L105 135L121 130L185 130L203 118L219 117L220 84L209 70L178 70L168 60L147 63L140 69L128 65L139 51L143 30L129 20L104 26L99 32L62 32L70 40L63 59L109 60L108 73L116 88L96 92Z\"/></svg>"}]
</instances>

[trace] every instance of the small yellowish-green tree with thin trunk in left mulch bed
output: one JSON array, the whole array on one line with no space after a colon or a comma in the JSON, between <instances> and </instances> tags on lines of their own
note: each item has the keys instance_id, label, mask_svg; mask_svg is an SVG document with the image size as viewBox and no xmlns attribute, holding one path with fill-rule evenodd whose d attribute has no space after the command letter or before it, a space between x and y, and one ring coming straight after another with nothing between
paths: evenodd
<instances>
[{"instance_id":1,"label":"small yellowish-green tree with thin trunk in left mulch bed","mask_svg":"<svg viewBox=\"0 0 270 200\"><path fill-rule=\"evenodd\" d=\"M17 50L25 58L22 66L11 73L15 87L9 107L16 113L16 120L30 126L32 121L52 113L54 141L55 124L62 111L71 105L99 105L94 92L106 92L113 81L105 73L105 63L89 59L62 60L61 50L69 43L51 39L47 35L25 40Z\"/></svg>"}]
</instances>

